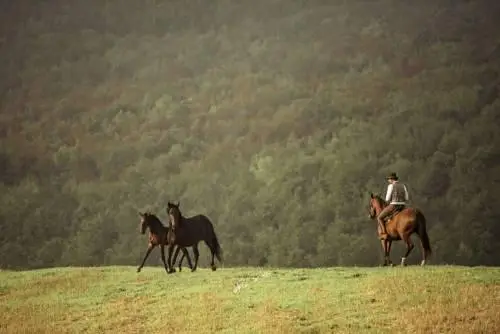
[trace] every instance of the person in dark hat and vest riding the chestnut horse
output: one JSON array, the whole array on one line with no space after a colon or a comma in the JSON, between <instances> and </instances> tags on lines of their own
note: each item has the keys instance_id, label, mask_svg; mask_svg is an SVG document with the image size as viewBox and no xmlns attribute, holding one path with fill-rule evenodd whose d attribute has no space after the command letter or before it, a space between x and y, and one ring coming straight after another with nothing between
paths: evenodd
<instances>
[{"instance_id":1,"label":"person in dark hat and vest riding the chestnut horse","mask_svg":"<svg viewBox=\"0 0 500 334\"><path fill-rule=\"evenodd\" d=\"M407 205L409 196L408 189L406 185L399 182L399 178L396 173L391 173L387 177L389 185L387 186L387 194L385 195L385 201L388 205L380 212L378 215L378 223L382 227L382 233L380 235L381 239L387 238L387 230L385 229L385 218L394 213L395 211L401 211Z\"/></svg>"}]
</instances>

